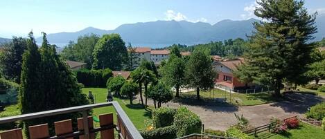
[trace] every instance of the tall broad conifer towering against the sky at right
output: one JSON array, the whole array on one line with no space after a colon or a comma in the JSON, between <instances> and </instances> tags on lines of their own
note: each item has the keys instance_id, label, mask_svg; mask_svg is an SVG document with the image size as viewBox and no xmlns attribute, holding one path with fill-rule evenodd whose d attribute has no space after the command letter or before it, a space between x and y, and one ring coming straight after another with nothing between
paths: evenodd
<instances>
[{"instance_id":1,"label":"tall broad conifer towering against the sky at right","mask_svg":"<svg viewBox=\"0 0 325 139\"><path fill-rule=\"evenodd\" d=\"M282 82L306 84L304 74L313 62L310 53L315 48L310 40L316 33L316 14L308 15L304 1L262 0L255 15L263 19L254 23L256 32L250 37L245 64L239 68L254 68L254 82L272 86L280 95Z\"/></svg>"}]
</instances>

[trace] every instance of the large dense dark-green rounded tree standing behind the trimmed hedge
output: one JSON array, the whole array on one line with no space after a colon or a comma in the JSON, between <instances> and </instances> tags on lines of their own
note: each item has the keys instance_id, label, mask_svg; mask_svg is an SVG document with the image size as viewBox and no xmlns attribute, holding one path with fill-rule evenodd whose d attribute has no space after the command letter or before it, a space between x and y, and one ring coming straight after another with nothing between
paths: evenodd
<instances>
[{"instance_id":1,"label":"large dense dark-green rounded tree standing behind the trimmed hedge","mask_svg":"<svg viewBox=\"0 0 325 139\"><path fill-rule=\"evenodd\" d=\"M120 35L109 34L101 37L94 48L93 68L110 68L120 71L128 58L128 51Z\"/></svg>"}]
</instances>

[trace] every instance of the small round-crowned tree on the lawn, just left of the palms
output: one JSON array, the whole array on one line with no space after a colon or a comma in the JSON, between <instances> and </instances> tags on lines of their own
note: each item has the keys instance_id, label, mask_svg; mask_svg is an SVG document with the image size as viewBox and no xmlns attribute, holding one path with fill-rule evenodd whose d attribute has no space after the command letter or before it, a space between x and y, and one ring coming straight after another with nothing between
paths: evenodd
<instances>
[{"instance_id":1,"label":"small round-crowned tree on the lawn, just left of the palms","mask_svg":"<svg viewBox=\"0 0 325 139\"><path fill-rule=\"evenodd\" d=\"M138 89L138 84L130 81L125 82L125 84L123 84L121 88L121 95L128 95L128 97L130 98L130 104L132 104L133 96L137 95L137 93L139 92Z\"/></svg>"}]
</instances>

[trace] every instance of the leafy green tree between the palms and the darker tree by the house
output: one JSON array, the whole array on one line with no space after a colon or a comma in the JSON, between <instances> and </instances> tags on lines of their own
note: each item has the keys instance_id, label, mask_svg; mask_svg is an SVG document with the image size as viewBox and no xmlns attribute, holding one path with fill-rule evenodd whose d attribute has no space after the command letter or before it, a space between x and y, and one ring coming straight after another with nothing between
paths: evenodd
<instances>
[{"instance_id":1,"label":"leafy green tree between the palms and the darker tree by the house","mask_svg":"<svg viewBox=\"0 0 325 139\"><path fill-rule=\"evenodd\" d=\"M175 97L179 97L179 89L185 83L185 62L182 57L171 54L168 62L161 68L162 80L168 86L174 86L176 89Z\"/></svg>"}]
</instances>

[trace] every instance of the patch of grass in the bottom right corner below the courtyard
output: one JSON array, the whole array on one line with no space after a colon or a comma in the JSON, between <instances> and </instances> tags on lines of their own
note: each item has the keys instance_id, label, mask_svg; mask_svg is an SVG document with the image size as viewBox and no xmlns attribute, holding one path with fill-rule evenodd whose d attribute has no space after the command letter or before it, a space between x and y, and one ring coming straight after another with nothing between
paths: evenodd
<instances>
[{"instance_id":1,"label":"patch of grass in the bottom right corner below the courtyard","mask_svg":"<svg viewBox=\"0 0 325 139\"><path fill-rule=\"evenodd\" d=\"M285 134L274 134L274 133L267 133L264 136L260 136L260 138L267 138L267 139L306 139L306 138L313 138L313 139L324 139L325 138L325 131L322 131L319 127L314 127L312 125L306 124L301 122L300 127L298 129L290 129Z\"/></svg>"}]
</instances>

